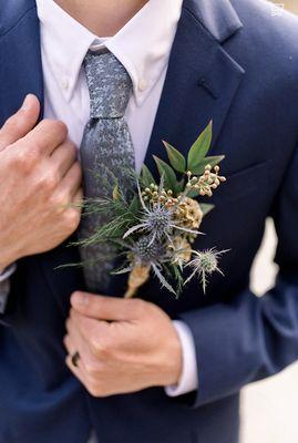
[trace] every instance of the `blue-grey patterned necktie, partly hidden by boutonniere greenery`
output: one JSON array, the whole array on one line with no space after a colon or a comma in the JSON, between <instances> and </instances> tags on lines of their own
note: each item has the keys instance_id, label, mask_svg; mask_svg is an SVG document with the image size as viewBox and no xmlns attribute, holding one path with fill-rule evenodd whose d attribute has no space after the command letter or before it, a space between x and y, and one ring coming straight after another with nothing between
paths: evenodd
<instances>
[{"instance_id":1,"label":"blue-grey patterned necktie, partly hidden by boutonniere greenery","mask_svg":"<svg viewBox=\"0 0 298 443\"><path fill-rule=\"evenodd\" d=\"M134 148L124 113L132 92L125 68L111 52L88 52L84 60L90 93L90 121L81 144L85 198L112 196L114 178L125 193L127 169L134 168ZM111 175L112 172L112 175ZM107 222L107 215L82 217L81 238ZM81 247L88 289L102 292L109 285L112 248L107 245Z\"/></svg>"}]
</instances>

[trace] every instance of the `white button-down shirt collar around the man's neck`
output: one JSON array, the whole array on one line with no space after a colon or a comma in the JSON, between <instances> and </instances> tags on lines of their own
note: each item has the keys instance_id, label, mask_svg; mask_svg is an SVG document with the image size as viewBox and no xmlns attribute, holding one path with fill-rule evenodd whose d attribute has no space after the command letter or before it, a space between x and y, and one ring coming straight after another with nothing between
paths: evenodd
<instances>
[{"instance_id":1,"label":"white button-down shirt collar around the man's neck","mask_svg":"<svg viewBox=\"0 0 298 443\"><path fill-rule=\"evenodd\" d=\"M166 68L183 0L150 0L114 37L99 38L53 0L37 0L41 44L66 100L88 50L105 45L125 66L141 106Z\"/></svg>"}]
</instances>

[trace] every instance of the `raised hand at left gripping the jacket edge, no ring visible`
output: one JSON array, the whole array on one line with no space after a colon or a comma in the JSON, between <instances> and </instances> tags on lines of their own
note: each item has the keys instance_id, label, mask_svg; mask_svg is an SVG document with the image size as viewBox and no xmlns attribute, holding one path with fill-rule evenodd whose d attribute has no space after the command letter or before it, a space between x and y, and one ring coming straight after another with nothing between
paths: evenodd
<instances>
[{"instance_id":1,"label":"raised hand at left gripping the jacket edge, no ring visible","mask_svg":"<svg viewBox=\"0 0 298 443\"><path fill-rule=\"evenodd\" d=\"M44 253L78 227L81 167L66 126L43 120L28 95L0 130L0 270L18 258ZM34 127L35 126L35 127Z\"/></svg>"}]
</instances>

